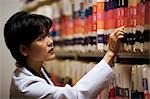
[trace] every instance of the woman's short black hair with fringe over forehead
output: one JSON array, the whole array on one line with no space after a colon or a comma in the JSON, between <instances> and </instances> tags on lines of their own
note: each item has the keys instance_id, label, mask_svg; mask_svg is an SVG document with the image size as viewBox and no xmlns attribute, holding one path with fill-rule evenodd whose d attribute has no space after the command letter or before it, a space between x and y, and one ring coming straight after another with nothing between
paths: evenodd
<instances>
[{"instance_id":1,"label":"woman's short black hair with fringe over forehead","mask_svg":"<svg viewBox=\"0 0 150 99\"><path fill-rule=\"evenodd\" d=\"M8 49L19 65L26 65L20 53L20 45L30 45L43 33L48 33L52 21L46 16L20 11L12 15L5 24L4 38Z\"/></svg>"}]
</instances>

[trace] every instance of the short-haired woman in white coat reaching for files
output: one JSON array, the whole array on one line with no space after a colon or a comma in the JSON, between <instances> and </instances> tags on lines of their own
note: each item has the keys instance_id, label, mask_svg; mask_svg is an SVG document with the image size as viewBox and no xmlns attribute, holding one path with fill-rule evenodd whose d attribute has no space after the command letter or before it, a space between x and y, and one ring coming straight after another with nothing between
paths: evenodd
<instances>
[{"instance_id":1,"label":"short-haired woman in white coat reaching for files","mask_svg":"<svg viewBox=\"0 0 150 99\"><path fill-rule=\"evenodd\" d=\"M49 36L52 21L42 15L24 11L15 13L4 27L5 42L16 60L10 98L93 99L114 79L111 62L116 56L123 27L109 36L108 51L73 87L55 86L43 67L55 58L53 40Z\"/></svg>"}]
</instances>

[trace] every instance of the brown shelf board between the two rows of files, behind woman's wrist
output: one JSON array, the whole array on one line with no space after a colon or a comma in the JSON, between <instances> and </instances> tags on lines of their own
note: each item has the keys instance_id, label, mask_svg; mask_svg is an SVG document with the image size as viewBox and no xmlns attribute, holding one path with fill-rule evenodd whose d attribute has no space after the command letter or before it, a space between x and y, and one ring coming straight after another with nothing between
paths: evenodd
<instances>
[{"instance_id":1,"label":"brown shelf board between the two rows of files, behind woman's wrist","mask_svg":"<svg viewBox=\"0 0 150 99\"><path fill-rule=\"evenodd\" d=\"M87 53L80 53L80 52L56 52L57 58L69 58L69 59L76 59L76 60L87 60L87 61L99 61L105 55L104 53L100 52L87 52ZM127 63L127 64L150 64L150 55L149 53L118 53L116 56L115 62L119 63Z\"/></svg>"}]
</instances>

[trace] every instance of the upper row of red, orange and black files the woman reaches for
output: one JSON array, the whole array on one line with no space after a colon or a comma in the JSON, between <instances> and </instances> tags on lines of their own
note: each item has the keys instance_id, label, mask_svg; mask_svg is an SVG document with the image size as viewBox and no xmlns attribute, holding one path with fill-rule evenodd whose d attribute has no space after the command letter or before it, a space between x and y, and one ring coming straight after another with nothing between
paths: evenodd
<instances>
[{"instance_id":1,"label":"upper row of red, orange and black files the woman reaches for","mask_svg":"<svg viewBox=\"0 0 150 99\"><path fill-rule=\"evenodd\" d=\"M60 0L33 13L53 20L50 34L56 50L107 50L108 36L125 26L122 51L148 51L150 34L149 0Z\"/></svg>"}]
</instances>

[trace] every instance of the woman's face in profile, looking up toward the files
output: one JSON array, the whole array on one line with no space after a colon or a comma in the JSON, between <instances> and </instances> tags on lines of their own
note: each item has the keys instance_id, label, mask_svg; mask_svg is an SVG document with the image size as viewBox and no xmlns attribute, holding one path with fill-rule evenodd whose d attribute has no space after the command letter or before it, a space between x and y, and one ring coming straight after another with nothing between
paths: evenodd
<instances>
[{"instance_id":1,"label":"woman's face in profile, looking up toward the files","mask_svg":"<svg viewBox=\"0 0 150 99\"><path fill-rule=\"evenodd\" d=\"M48 35L41 35L33 41L28 50L27 59L34 62L44 62L55 58L53 40Z\"/></svg>"}]
</instances>

